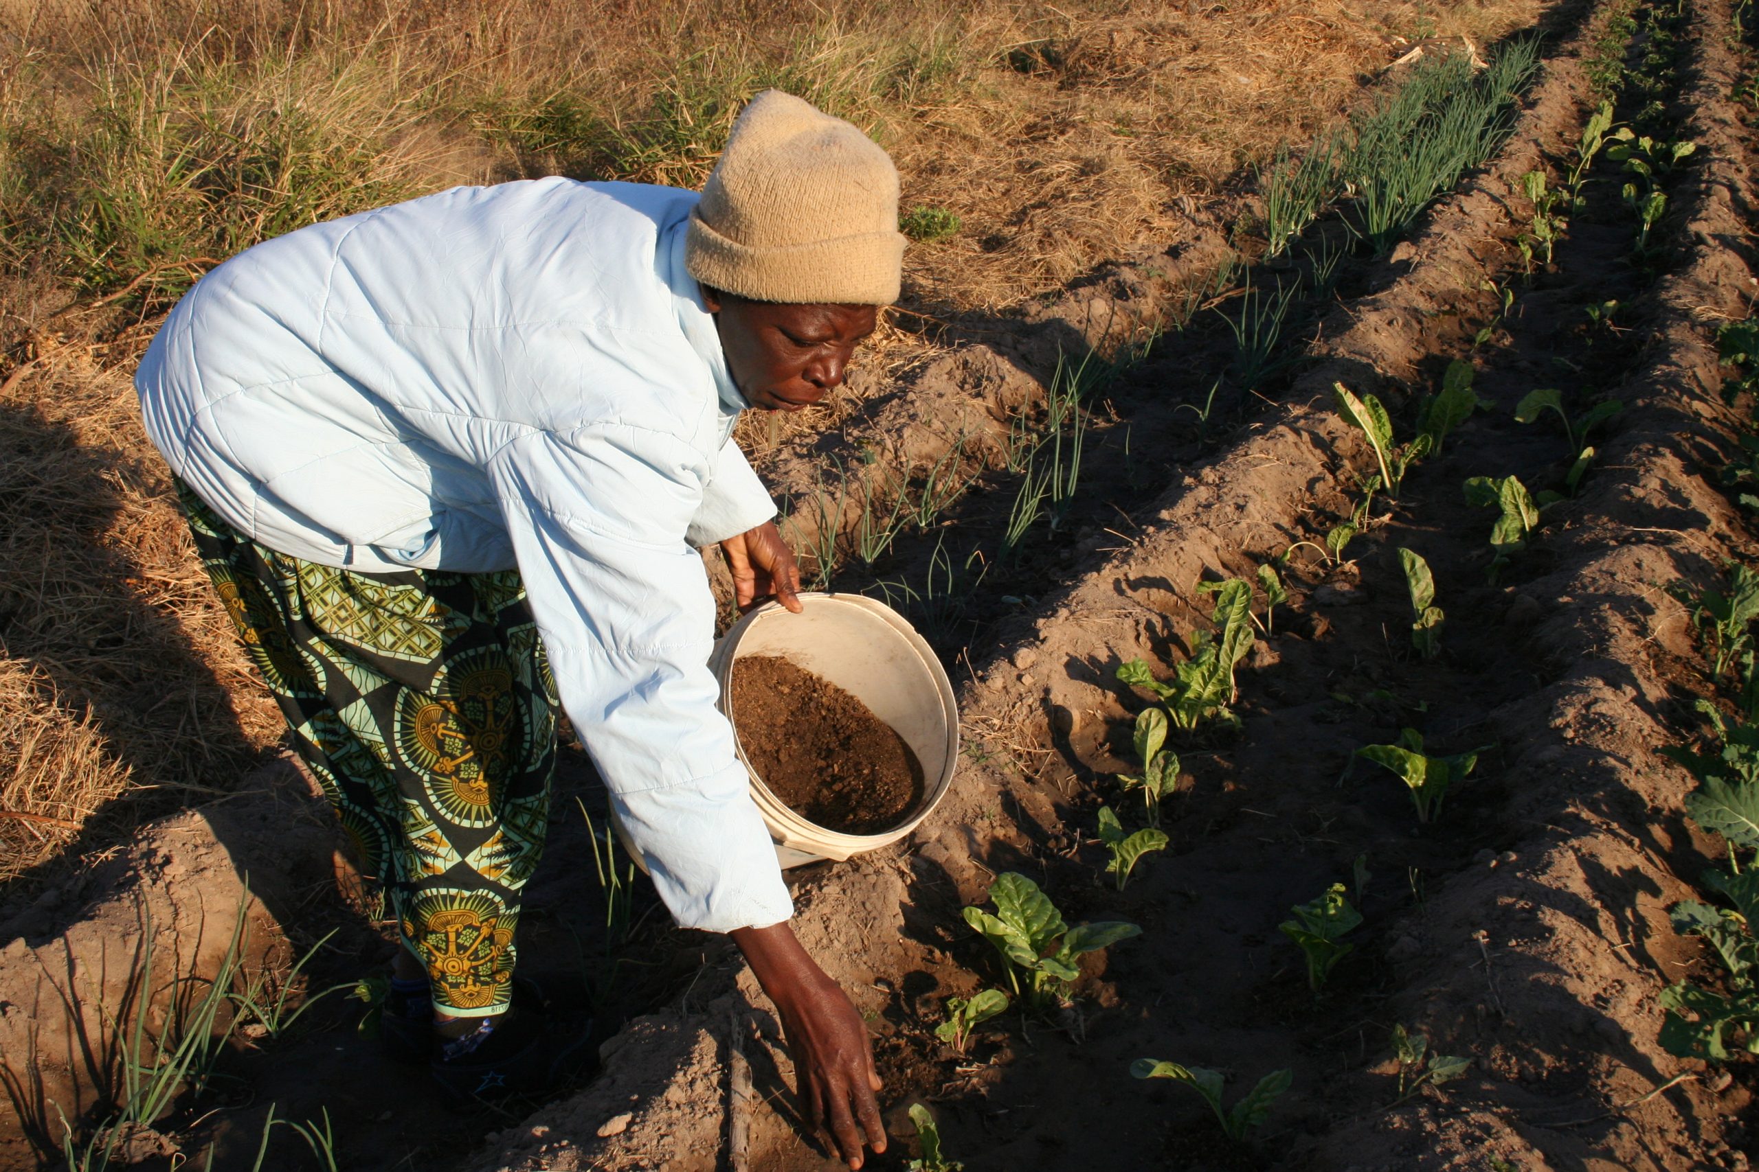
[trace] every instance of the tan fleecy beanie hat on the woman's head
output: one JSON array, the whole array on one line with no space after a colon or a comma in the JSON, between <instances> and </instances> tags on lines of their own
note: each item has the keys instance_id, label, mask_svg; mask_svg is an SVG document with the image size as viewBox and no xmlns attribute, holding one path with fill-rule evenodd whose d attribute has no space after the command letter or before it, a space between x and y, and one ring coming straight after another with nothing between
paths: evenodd
<instances>
[{"instance_id":1,"label":"tan fleecy beanie hat on the woman's head","mask_svg":"<svg viewBox=\"0 0 1759 1172\"><path fill-rule=\"evenodd\" d=\"M902 264L885 149L781 90L751 98L690 213L690 274L753 300L888 306Z\"/></svg>"}]
</instances>

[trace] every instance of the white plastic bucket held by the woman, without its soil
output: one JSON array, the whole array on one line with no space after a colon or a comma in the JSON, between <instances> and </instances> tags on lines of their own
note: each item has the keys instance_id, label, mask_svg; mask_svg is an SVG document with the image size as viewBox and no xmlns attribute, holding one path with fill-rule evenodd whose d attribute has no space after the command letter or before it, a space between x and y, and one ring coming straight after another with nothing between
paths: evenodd
<instances>
[{"instance_id":1,"label":"white plastic bucket held by the woman, without its soil","mask_svg":"<svg viewBox=\"0 0 1759 1172\"><path fill-rule=\"evenodd\" d=\"M941 803L959 763L959 705L953 685L934 648L916 629L885 603L860 594L802 594L800 603L804 610L799 615L779 603L760 606L735 622L709 655L709 669L721 685L719 708L734 724L735 740L739 722L730 712L734 661L744 655L777 655L836 684L904 738L922 764L922 803L887 831L843 835L806 821L770 792L751 768L744 745L739 745L739 763L751 777L751 799L776 840L776 859L785 868L821 859L841 863L851 854L897 842ZM612 822L616 824L616 815ZM623 826L616 824L616 829L624 849L630 849ZM633 849L630 856L646 870Z\"/></svg>"}]
</instances>

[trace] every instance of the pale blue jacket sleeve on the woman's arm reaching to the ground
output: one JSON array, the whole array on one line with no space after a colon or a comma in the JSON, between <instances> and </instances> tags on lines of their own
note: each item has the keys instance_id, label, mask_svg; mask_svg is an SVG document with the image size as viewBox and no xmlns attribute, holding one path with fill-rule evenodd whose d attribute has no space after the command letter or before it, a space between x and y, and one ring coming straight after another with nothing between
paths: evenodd
<instances>
[{"instance_id":1,"label":"pale blue jacket sleeve on the woman's arm reaching to the ground","mask_svg":"<svg viewBox=\"0 0 1759 1172\"><path fill-rule=\"evenodd\" d=\"M714 596L686 543L691 531L758 524L734 508L755 494L723 483L705 525L704 481L737 474L726 452L704 467L677 439L621 423L528 434L489 471L561 703L672 915L709 931L788 919L716 708Z\"/></svg>"}]
</instances>

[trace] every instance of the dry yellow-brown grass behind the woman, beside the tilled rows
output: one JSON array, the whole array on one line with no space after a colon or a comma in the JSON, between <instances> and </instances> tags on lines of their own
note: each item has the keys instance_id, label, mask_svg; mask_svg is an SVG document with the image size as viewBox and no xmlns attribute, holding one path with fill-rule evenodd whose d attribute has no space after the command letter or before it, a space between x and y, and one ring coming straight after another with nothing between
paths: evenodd
<instances>
[{"instance_id":1,"label":"dry yellow-brown grass behind the woman, beside the tilled rows","mask_svg":"<svg viewBox=\"0 0 1759 1172\"><path fill-rule=\"evenodd\" d=\"M1398 37L1485 42L1536 11L0 0L0 269L14 274L0 288L0 810L81 822L130 785L220 789L278 736L128 388L157 316L209 260L454 183L695 186L741 104L776 84L885 142L906 209L959 216L909 253L915 307L1006 316L1191 218L1226 223L1240 177L1347 104ZM890 329L869 369L925 353ZM744 438L777 439L762 422ZM0 815L0 879L67 833Z\"/></svg>"}]
</instances>

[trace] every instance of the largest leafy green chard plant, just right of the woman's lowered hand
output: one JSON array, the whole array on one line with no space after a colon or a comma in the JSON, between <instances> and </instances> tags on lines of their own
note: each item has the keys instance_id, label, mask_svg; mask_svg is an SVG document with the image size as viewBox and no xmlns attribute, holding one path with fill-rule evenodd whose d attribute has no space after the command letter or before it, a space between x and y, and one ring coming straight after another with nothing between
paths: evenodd
<instances>
[{"instance_id":1,"label":"largest leafy green chard plant, just right of the woman's lowered hand","mask_svg":"<svg viewBox=\"0 0 1759 1172\"><path fill-rule=\"evenodd\" d=\"M1142 928L1124 921L1069 928L1038 884L1018 872L997 875L989 900L996 912L967 907L966 922L1001 954L1015 996L1025 996L1038 1009L1068 1003L1069 986L1082 975L1077 963L1084 954L1142 935Z\"/></svg>"}]
</instances>

